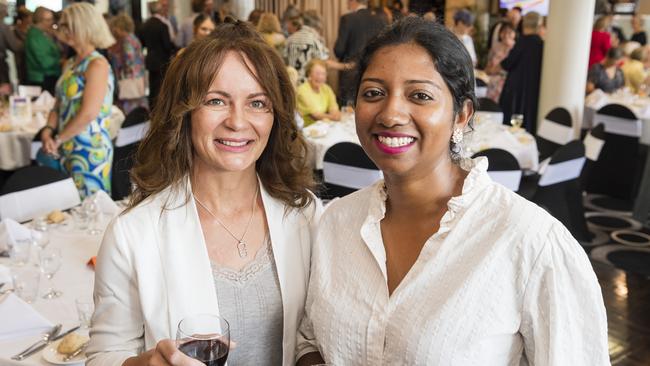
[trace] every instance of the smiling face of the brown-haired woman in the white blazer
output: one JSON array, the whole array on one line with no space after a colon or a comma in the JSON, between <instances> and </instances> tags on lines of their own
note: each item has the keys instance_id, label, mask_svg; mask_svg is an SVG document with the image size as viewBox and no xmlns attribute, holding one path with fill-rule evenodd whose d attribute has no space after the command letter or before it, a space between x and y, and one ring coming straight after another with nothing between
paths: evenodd
<instances>
[{"instance_id":1,"label":"smiling face of the brown-haired woman in the white blazer","mask_svg":"<svg viewBox=\"0 0 650 366\"><path fill-rule=\"evenodd\" d=\"M239 54L228 52L202 105L192 111L192 146L199 171L255 171L269 140L271 101L244 59L249 67Z\"/></svg>"}]
</instances>

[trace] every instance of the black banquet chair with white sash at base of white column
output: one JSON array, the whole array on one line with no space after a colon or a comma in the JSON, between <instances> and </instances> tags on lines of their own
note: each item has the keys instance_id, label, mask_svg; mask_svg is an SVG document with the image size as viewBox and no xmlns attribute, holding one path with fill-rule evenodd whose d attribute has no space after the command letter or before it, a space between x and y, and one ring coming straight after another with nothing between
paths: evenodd
<instances>
[{"instance_id":1,"label":"black banquet chair with white sash at base of white column","mask_svg":"<svg viewBox=\"0 0 650 366\"><path fill-rule=\"evenodd\" d=\"M562 107L548 112L537 128L539 161L544 161L562 145L574 139L571 114Z\"/></svg>"}]
</instances>

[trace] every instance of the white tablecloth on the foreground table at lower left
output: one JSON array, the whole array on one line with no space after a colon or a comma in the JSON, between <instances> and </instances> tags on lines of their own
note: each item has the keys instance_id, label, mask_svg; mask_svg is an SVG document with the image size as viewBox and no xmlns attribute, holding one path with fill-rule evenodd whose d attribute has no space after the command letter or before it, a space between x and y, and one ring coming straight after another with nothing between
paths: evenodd
<instances>
[{"instance_id":1,"label":"white tablecloth on the foreground table at lower left","mask_svg":"<svg viewBox=\"0 0 650 366\"><path fill-rule=\"evenodd\" d=\"M105 227L108 220L109 218L104 215L101 227ZM39 297L32 306L53 324L61 323L62 331L79 325L76 299L92 302L95 272L86 263L97 254L102 235L89 235L86 231L78 230L74 225L69 228L50 230L49 246L61 248L63 257L63 265L52 278L52 282L54 288L62 291L63 295L52 300L42 299L40 296L47 291L49 281L41 275ZM32 251L35 252L36 249ZM32 254L32 261L35 262L36 253ZM8 258L0 258L0 264L11 266L11 261ZM87 330L79 332L83 333ZM39 336L36 335L0 342L0 365L51 365L42 358L40 352L20 362L10 359L11 356L36 342L38 338Z\"/></svg>"}]
</instances>

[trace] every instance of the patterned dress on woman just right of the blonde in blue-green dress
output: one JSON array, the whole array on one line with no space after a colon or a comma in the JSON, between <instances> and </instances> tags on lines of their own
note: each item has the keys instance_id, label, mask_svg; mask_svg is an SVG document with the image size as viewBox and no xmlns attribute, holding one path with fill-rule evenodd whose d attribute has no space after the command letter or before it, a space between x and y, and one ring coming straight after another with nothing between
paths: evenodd
<instances>
[{"instance_id":1,"label":"patterned dress on woman just right of the blonde in blue-green dress","mask_svg":"<svg viewBox=\"0 0 650 366\"><path fill-rule=\"evenodd\" d=\"M117 73L118 80L145 77L142 44L133 34L128 34L123 40L118 41L115 46L109 48L108 57L113 69ZM138 107L149 109L149 102L146 96L135 99L120 99L116 104L124 114L129 114L129 112Z\"/></svg>"}]
</instances>

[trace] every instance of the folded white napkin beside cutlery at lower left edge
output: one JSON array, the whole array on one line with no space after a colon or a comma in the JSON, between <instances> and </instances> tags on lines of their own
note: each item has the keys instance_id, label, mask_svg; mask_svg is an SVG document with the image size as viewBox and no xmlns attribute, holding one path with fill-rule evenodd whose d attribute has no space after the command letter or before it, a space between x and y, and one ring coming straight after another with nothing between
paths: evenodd
<instances>
[{"instance_id":1,"label":"folded white napkin beside cutlery at lower left edge","mask_svg":"<svg viewBox=\"0 0 650 366\"><path fill-rule=\"evenodd\" d=\"M13 293L0 299L0 341L42 334L52 323Z\"/></svg>"}]
</instances>

